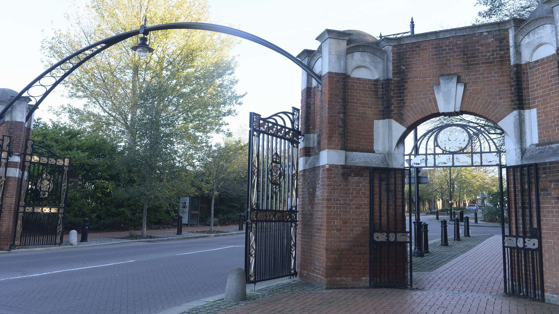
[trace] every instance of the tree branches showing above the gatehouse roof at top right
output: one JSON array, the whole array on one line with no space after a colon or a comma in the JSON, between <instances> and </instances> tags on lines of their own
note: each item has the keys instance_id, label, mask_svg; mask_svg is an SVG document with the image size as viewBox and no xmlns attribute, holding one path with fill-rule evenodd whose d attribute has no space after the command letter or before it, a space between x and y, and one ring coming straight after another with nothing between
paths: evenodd
<instances>
[{"instance_id":1,"label":"tree branches showing above the gatehouse roof at top right","mask_svg":"<svg viewBox=\"0 0 559 314\"><path fill-rule=\"evenodd\" d=\"M508 20L512 17L527 18L545 0L477 0L476 6L486 7L477 12L477 23Z\"/></svg>"}]
</instances>

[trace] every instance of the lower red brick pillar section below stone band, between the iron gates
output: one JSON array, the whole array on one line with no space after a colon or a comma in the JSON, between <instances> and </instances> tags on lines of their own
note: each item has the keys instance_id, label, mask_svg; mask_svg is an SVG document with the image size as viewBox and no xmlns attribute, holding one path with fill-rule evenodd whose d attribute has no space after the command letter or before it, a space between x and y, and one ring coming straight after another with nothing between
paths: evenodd
<instances>
[{"instance_id":1,"label":"lower red brick pillar section below stone band, between the iron gates","mask_svg":"<svg viewBox=\"0 0 559 314\"><path fill-rule=\"evenodd\" d=\"M368 167L326 165L303 170L299 184L301 277L324 286L369 282Z\"/></svg>"}]
</instances>

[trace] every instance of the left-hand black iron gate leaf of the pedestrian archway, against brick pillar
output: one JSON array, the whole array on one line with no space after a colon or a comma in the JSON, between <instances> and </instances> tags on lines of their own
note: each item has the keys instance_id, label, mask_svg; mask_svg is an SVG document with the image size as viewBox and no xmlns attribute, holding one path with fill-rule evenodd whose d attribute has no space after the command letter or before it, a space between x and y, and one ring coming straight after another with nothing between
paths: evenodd
<instances>
[{"instance_id":1,"label":"left-hand black iron gate leaf of the pedestrian archway, against brick pillar","mask_svg":"<svg viewBox=\"0 0 559 314\"><path fill-rule=\"evenodd\" d=\"M405 177L405 170L401 168L369 168L371 287L408 287L410 284L407 257L411 237L406 231Z\"/></svg>"}]
</instances>

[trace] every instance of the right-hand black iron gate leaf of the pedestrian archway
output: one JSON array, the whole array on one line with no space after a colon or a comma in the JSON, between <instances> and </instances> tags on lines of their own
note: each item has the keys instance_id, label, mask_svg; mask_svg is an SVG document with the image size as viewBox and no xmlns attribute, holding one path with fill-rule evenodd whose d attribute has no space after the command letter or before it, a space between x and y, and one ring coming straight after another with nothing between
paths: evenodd
<instances>
[{"instance_id":1,"label":"right-hand black iron gate leaf of the pedestrian archway","mask_svg":"<svg viewBox=\"0 0 559 314\"><path fill-rule=\"evenodd\" d=\"M544 301L537 165L506 166L506 188L507 209L501 209L505 293Z\"/></svg>"}]
</instances>

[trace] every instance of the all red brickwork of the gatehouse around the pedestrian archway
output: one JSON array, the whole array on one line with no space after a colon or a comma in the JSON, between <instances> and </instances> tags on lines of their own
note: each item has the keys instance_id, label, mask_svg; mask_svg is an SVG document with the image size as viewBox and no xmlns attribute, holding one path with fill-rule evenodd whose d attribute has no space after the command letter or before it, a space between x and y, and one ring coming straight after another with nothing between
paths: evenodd
<instances>
[{"instance_id":1,"label":"all red brickwork of the gatehouse around the pedestrian archway","mask_svg":"<svg viewBox=\"0 0 559 314\"><path fill-rule=\"evenodd\" d=\"M510 65L508 36L498 30L393 46L392 79L326 73L322 91L302 91L302 130L316 134L317 144L300 156L373 152L375 120L393 118L411 130L439 116L433 85L441 75L466 82L462 113L499 122L513 110L537 108L540 143L557 142L557 56ZM559 169L557 162L540 166L546 292L559 294ZM299 184L301 277L324 286L366 285L367 167L322 165L302 170Z\"/></svg>"}]
</instances>

